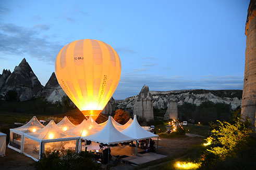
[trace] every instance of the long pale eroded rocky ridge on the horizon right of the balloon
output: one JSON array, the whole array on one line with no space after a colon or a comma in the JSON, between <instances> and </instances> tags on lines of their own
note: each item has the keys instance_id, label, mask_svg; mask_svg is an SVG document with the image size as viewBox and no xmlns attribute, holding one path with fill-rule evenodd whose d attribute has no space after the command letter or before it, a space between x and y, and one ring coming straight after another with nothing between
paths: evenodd
<instances>
[{"instance_id":1,"label":"long pale eroded rocky ridge on the horizon right of the balloon","mask_svg":"<svg viewBox=\"0 0 256 170\"><path fill-rule=\"evenodd\" d=\"M230 104L232 109L241 106L242 90L172 90L172 91L150 91L153 96L153 107L155 109L167 109L168 101L176 101L178 104L189 102L199 106L204 101L214 103ZM138 96L138 95L137 95ZM117 108L133 109L137 96L128 97L125 100L117 100Z\"/></svg>"}]
</instances>

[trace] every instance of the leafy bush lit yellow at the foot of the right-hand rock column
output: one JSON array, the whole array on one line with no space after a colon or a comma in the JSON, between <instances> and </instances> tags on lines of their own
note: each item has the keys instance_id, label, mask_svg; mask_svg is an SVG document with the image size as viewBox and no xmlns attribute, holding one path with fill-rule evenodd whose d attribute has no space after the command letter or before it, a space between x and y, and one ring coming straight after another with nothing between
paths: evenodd
<instances>
[{"instance_id":1,"label":"leafy bush lit yellow at the foot of the right-hand rock column","mask_svg":"<svg viewBox=\"0 0 256 170\"><path fill-rule=\"evenodd\" d=\"M202 169L209 169L216 163L237 158L252 141L253 131L248 121L243 122L237 119L234 124L217 122L219 125L214 126L210 137L206 139L211 148L206 149L202 156Z\"/></svg>"}]
</instances>

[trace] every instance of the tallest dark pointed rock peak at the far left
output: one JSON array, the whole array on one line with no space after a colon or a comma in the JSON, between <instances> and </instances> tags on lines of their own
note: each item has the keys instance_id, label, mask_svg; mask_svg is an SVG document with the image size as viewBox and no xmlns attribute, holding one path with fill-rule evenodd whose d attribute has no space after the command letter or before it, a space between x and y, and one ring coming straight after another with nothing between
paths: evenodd
<instances>
[{"instance_id":1,"label":"tallest dark pointed rock peak at the far left","mask_svg":"<svg viewBox=\"0 0 256 170\"><path fill-rule=\"evenodd\" d=\"M24 58L19 66L16 66L14 72L8 76L1 88L0 94L4 96L9 90L15 90L20 101L26 101L35 97L43 88L34 74L28 62Z\"/></svg>"}]
</instances>

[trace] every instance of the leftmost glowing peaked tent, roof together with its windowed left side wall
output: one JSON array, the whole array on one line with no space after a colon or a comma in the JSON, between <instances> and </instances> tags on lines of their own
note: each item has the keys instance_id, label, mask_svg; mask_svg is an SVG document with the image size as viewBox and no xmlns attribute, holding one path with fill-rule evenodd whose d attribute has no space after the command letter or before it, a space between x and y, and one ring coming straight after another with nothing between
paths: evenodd
<instances>
[{"instance_id":1,"label":"leftmost glowing peaked tent, roof together with its windowed left side wall","mask_svg":"<svg viewBox=\"0 0 256 170\"><path fill-rule=\"evenodd\" d=\"M22 152L24 133L34 133L42 128L44 128L44 125L42 125L38 119L33 116L32 119L25 125L10 129L10 141L8 148L17 152Z\"/></svg>"}]
</instances>

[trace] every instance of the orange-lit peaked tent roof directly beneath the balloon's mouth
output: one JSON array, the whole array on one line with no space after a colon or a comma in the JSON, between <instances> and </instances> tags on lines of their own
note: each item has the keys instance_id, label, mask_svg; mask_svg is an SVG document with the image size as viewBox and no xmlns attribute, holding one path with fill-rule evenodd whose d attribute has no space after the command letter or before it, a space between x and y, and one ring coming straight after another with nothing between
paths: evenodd
<instances>
[{"instance_id":1,"label":"orange-lit peaked tent roof directly beneath the balloon's mouth","mask_svg":"<svg viewBox=\"0 0 256 170\"><path fill-rule=\"evenodd\" d=\"M94 129L92 125L90 125L86 120L83 120L80 125L75 128L69 129L66 131L68 134L76 135L76 136L88 136L99 132Z\"/></svg>"}]
</instances>

